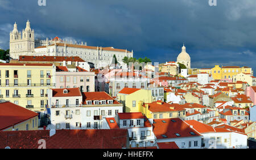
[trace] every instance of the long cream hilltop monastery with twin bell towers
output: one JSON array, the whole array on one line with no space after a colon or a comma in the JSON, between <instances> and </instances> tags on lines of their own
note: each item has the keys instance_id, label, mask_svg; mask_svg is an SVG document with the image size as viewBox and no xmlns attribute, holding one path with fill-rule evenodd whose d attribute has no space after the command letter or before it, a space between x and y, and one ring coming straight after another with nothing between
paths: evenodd
<instances>
[{"instance_id":1,"label":"long cream hilltop monastery with twin bell towers","mask_svg":"<svg viewBox=\"0 0 256 160\"><path fill-rule=\"evenodd\" d=\"M133 50L115 49L114 47L87 46L86 42L75 44L72 41L63 41L59 37L53 40L36 40L34 30L30 28L27 21L26 29L22 33L18 31L17 24L14 24L10 32L10 57L18 59L19 55L48 55L48 56L78 56L86 62L94 63L95 68L110 66L113 56L121 65L124 57L133 57Z\"/></svg>"}]
</instances>

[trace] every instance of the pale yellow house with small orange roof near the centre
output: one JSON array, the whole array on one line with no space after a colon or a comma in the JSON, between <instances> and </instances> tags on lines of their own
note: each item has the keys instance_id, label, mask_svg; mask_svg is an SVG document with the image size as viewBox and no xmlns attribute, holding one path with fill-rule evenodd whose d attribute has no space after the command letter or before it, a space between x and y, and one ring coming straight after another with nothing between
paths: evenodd
<instances>
[{"instance_id":1,"label":"pale yellow house with small orange roof near the centre","mask_svg":"<svg viewBox=\"0 0 256 160\"><path fill-rule=\"evenodd\" d=\"M123 88L117 93L118 101L123 103L123 112L136 113L141 112L139 102L151 103L151 90L139 88Z\"/></svg>"}]
</instances>

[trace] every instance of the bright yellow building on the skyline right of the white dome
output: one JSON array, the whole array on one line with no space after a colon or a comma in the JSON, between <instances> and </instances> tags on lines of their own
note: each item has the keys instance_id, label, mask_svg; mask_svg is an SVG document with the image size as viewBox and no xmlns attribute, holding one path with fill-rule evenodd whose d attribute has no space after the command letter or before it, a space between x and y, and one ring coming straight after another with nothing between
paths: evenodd
<instances>
[{"instance_id":1,"label":"bright yellow building on the skyline right of the white dome","mask_svg":"<svg viewBox=\"0 0 256 160\"><path fill-rule=\"evenodd\" d=\"M252 73L250 67L239 67L239 66L222 66L222 68L216 65L212 68L212 75L214 80L223 80L227 82L233 81L233 76L238 73Z\"/></svg>"}]
</instances>

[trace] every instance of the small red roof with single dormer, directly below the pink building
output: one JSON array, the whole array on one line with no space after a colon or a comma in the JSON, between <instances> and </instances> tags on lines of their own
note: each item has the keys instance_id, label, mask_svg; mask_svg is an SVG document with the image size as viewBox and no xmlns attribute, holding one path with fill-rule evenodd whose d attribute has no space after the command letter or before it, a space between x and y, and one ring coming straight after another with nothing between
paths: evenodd
<instances>
[{"instance_id":1,"label":"small red roof with single dormer, directly below the pink building","mask_svg":"<svg viewBox=\"0 0 256 160\"><path fill-rule=\"evenodd\" d=\"M64 93L65 89L68 90L68 93ZM79 88L52 89L52 97L75 97L75 96L82 96Z\"/></svg>"}]
</instances>

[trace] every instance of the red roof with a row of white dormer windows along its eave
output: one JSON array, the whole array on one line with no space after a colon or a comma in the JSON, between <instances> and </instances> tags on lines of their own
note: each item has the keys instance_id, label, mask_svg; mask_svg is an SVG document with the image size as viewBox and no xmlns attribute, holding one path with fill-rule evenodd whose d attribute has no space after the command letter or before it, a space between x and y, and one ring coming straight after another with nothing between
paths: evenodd
<instances>
[{"instance_id":1,"label":"red roof with a row of white dormer windows along its eave","mask_svg":"<svg viewBox=\"0 0 256 160\"><path fill-rule=\"evenodd\" d=\"M113 100L113 104L120 104L106 92L82 92L82 102L84 105L86 105L86 101L95 100ZM92 105L93 104L92 102ZM106 102L106 104L108 104L108 102Z\"/></svg>"}]
</instances>

